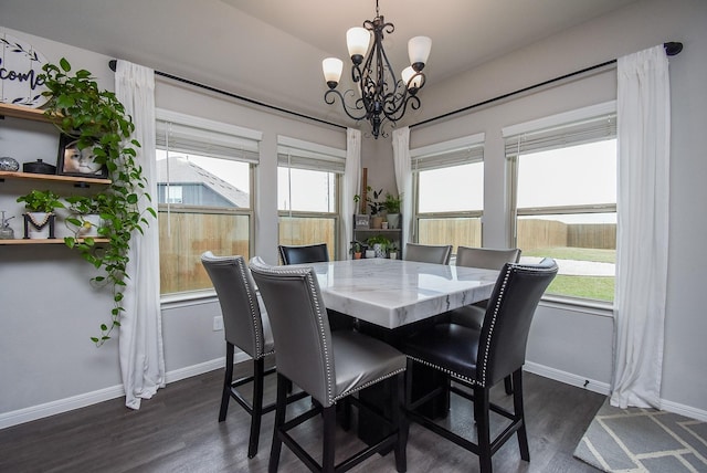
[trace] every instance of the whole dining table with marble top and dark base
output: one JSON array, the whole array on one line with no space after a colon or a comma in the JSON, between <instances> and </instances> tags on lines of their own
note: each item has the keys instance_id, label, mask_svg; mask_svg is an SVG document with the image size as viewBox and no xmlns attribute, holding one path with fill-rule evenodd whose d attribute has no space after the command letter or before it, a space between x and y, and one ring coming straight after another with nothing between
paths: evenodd
<instances>
[{"instance_id":1,"label":"whole dining table with marble top and dark base","mask_svg":"<svg viewBox=\"0 0 707 473\"><path fill-rule=\"evenodd\" d=\"M356 329L392 346L444 313L489 298L498 271L382 257L307 263L317 275L324 303L331 313L354 317ZM413 397L424 396L435 386L449 382L439 371L414 367ZM381 407L383 414L390 389L386 383L362 389L359 398ZM422 408L429 417L449 411L449 397L439 396ZM359 410L358 435L373 444L387 429L376 416Z\"/></svg>"}]
</instances>

